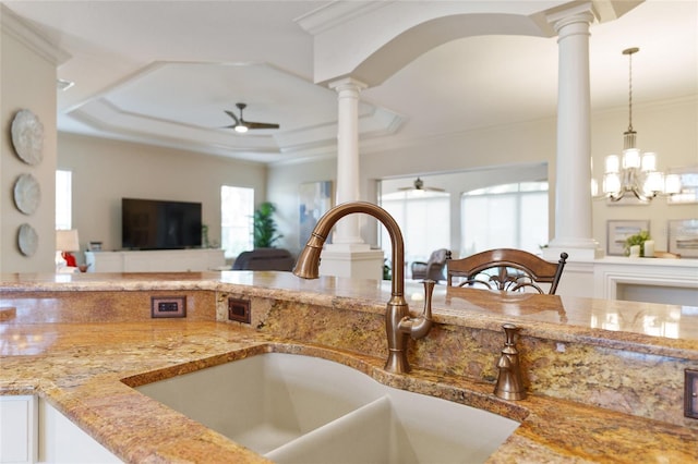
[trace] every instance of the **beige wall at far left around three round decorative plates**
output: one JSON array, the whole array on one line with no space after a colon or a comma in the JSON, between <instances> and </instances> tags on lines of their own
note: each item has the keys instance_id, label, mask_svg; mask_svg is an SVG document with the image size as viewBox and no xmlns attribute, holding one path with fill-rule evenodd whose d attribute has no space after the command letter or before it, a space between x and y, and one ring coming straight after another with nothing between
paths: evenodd
<instances>
[{"instance_id":1,"label":"beige wall at far left around three round decorative plates","mask_svg":"<svg viewBox=\"0 0 698 464\"><path fill-rule=\"evenodd\" d=\"M0 271L52 272L56 255L56 63L50 51L41 50L40 38L23 40L20 25L11 23L4 8L0 45ZM50 48L47 46L47 48ZM40 163L31 166L15 154L11 125L16 112L31 110L44 125L44 150ZM14 204L13 186L24 173L39 183L41 198L37 210L22 213ZM17 230L28 223L38 234L38 247L33 256L24 256L17 246Z\"/></svg>"}]
</instances>

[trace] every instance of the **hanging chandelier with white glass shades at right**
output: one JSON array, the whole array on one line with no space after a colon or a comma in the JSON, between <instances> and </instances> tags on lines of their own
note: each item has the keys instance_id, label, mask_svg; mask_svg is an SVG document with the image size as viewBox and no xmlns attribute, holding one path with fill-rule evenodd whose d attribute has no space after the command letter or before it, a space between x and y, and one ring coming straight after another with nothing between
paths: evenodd
<instances>
[{"instance_id":1,"label":"hanging chandelier with white glass shades at right","mask_svg":"<svg viewBox=\"0 0 698 464\"><path fill-rule=\"evenodd\" d=\"M673 195L681 192L678 174L666 174L657 170L657 154L640 154L637 148L637 132L633 130L633 54L639 48L623 50L628 56L628 130L623 133L623 156L609 155L605 158L603 194L597 195L599 186L592 180L592 195L618 202L626 194L633 194L640 202L649 202L658 195Z\"/></svg>"}]
</instances>

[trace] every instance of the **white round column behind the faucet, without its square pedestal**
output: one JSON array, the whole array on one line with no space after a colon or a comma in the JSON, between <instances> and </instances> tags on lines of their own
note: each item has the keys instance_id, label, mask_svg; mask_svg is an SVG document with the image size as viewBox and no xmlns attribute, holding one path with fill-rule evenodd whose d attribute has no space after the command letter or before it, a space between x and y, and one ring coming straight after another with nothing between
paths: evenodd
<instances>
[{"instance_id":1,"label":"white round column behind the faucet, without its square pedestal","mask_svg":"<svg viewBox=\"0 0 698 464\"><path fill-rule=\"evenodd\" d=\"M329 84L337 91L337 205L359 199L359 94L366 86L353 78ZM363 244L359 216L349 215L337 222L333 244Z\"/></svg>"}]
</instances>

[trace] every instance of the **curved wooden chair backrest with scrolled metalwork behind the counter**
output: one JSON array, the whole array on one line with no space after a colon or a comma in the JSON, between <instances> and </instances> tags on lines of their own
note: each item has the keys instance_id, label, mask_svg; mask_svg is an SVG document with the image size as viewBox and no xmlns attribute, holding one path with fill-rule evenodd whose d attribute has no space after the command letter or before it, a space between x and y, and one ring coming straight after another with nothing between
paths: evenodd
<instances>
[{"instance_id":1,"label":"curved wooden chair backrest with scrolled metalwork behind the counter","mask_svg":"<svg viewBox=\"0 0 698 464\"><path fill-rule=\"evenodd\" d=\"M467 258L449 259L446 281L448 286L481 285L506 292L532 289L554 295L566 262L566 253L559 254L557 262L550 262L522 249L489 249ZM550 283L550 290L543 291L539 283Z\"/></svg>"}]
</instances>

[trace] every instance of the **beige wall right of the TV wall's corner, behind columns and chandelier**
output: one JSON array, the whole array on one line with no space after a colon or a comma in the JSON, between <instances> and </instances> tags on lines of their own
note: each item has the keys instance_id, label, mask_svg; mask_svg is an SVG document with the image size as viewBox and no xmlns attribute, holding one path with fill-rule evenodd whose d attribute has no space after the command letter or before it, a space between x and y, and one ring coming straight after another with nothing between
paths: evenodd
<instances>
[{"instance_id":1,"label":"beige wall right of the TV wall's corner, behind columns and chandelier","mask_svg":"<svg viewBox=\"0 0 698 464\"><path fill-rule=\"evenodd\" d=\"M604 157L623 148L623 132L628 124L627 108L592 113L592 158L594 174L601 176ZM659 168L698 166L698 99L691 96L679 101L664 101L634 106L633 119L638 132L638 146L645 151L658 151ZM477 131L411 141L409 144L381 150L375 141L361 143L360 197L375 200L375 181L389 178L413 178L418 174L480 170L501 167L518 170L521 164L546 163L550 182L550 230L554 237L555 223L555 119L530 121L507 126L485 127ZM574 173L570 173L574 175ZM269 168L269 200L279 205L284 215L287 239L296 246L298 211L291 197L297 195L301 182L333 180L336 182L336 163L310 161L303 164L273 166ZM496 178L496 175L495 175ZM496 179L493 183L498 183ZM564 180L563 180L564 182ZM291 206L296 209L291 209ZM666 249L666 221L670 219L698 218L697 205L667 206L658 198L649 206L609 206L603 200L593 202L592 237L605 249L606 221L610 219L649 219L650 233L658 249ZM459 219L454 217L454 221ZM368 243L375 244L375 225L366 220L362 234ZM453 229L452 229L453 230ZM296 231L296 232L293 232ZM296 242L293 242L296 239Z\"/></svg>"}]
</instances>

